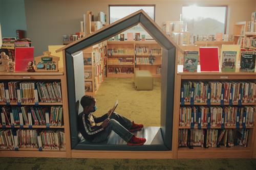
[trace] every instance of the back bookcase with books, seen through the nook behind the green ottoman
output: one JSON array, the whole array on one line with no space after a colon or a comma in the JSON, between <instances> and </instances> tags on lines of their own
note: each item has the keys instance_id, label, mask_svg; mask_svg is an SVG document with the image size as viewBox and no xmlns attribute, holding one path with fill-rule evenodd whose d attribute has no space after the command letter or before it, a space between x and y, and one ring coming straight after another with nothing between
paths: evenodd
<instances>
[{"instance_id":1,"label":"back bookcase with books, seen through the nook behind the green ottoman","mask_svg":"<svg viewBox=\"0 0 256 170\"><path fill-rule=\"evenodd\" d=\"M161 77L162 49L156 41L108 41L107 56L108 77L133 77L134 70Z\"/></svg>"}]
</instances>

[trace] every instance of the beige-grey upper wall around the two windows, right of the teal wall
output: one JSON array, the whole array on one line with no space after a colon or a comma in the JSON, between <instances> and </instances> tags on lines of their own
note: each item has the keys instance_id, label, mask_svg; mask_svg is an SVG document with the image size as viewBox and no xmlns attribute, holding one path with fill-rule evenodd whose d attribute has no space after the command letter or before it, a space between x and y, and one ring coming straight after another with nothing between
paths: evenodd
<instances>
[{"instance_id":1,"label":"beige-grey upper wall around the two windows, right of the teal wall","mask_svg":"<svg viewBox=\"0 0 256 170\"><path fill-rule=\"evenodd\" d=\"M62 35L80 30L83 13L103 11L108 14L109 5L155 4L155 21L161 27L167 20L179 20L184 5L227 5L227 33L232 34L237 21L249 20L255 11L254 0L244 1L28 1L25 0L28 37L35 46L35 56L41 55L48 45L62 44Z\"/></svg>"}]
</instances>

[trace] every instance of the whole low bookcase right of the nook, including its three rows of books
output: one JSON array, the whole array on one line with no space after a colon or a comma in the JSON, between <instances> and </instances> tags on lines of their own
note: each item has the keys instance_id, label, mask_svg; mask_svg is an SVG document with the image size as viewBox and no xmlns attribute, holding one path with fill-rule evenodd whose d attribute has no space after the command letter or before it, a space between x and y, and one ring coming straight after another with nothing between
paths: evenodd
<instances>
[{"instance_id":1,"label":"whole low bookcase right of the nook, including its three rows of books","mask_svg":"<svg viewBox=\"0 0 256 170\"><path fill-rule=\"evenodd\" d=\"M253 157L254 72L178 72L175 89L177 158Z\"/></svg>"}]
</instances>

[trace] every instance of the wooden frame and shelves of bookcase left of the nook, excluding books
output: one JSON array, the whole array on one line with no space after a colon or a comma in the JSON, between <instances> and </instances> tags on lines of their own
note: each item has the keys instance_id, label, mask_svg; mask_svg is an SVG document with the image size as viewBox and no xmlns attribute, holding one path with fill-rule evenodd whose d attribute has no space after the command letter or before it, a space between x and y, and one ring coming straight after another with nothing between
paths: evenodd
<instances>
[{"instance_id":1,"label":"wooden frame and shelves of bookcase left of the nook, excluding books","mask_svg":"<svg viewBox=\"0 0 256 170\"><path fill-rule=\"evenodd\" d=\"M65 62L64 62L65 66ZM64 129L65 131L65 140L66 140L66 149L42 149L39 151L38 148L19 148L18 151L3 149L0 150L1 157L71 157L71 145L70 145L70 131L69 131L69 113L68 113L68 95L67 95L67 77L65 72L1 72L1 80L3 81L47 81L47 80L56 80L61 82L61 96L62 102L58 103L41 103L38 105L59 105L62 106L63 111L63 126L50 126L49 129ZM0 103L0 105L6 105L6 103ZM17 105L17 103L10 103L11 106ZM26 105L35 105L35 103L25 104L22 103L22 106ZM0 127L2 128L2 126ZM6 126L6 128L11 128ZM20 128L20 126L15 126L15 128ZM23 128L29 128L24 126ZM32 126L33 129L47 129L46 126Z\"/></svg>"}]
</instances>

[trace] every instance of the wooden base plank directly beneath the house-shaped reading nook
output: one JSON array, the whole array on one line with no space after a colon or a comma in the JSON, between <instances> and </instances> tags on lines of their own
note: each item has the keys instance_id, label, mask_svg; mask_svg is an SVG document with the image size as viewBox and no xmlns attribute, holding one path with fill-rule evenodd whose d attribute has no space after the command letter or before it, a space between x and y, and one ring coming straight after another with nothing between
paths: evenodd
<instances>
[{"instance_id":1,"label":"wooden base plank directly beneath the house-shaped reading nook","mask_svg":"<svg viewBox=\"0 0 256 170\"><path fill-rule=\"evenodd\" d=\"M72 158L173 159L172 151L82 151L72 150Z\"/></svg>"}]
</instances>

